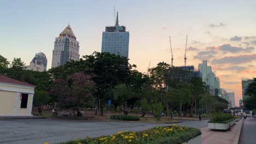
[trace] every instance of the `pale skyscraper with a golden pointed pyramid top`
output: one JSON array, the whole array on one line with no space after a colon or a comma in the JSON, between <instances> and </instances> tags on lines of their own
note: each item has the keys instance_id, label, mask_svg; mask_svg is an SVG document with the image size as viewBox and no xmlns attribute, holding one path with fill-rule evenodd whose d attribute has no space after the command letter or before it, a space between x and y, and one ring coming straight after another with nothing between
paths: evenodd
<instances>
[{"instance_id":1,"label":"pale skyscraper with a golden pointed pyramid top","mask_svg":"<svg viewBox=\"0 0 256 144\"><path fill-rule=\"evenodd\" d=\"M59 37L55 38L51 68L64 65L70 60L78 61L79 56L79 42L68 24Z\"/></svg>"}]
</instances>

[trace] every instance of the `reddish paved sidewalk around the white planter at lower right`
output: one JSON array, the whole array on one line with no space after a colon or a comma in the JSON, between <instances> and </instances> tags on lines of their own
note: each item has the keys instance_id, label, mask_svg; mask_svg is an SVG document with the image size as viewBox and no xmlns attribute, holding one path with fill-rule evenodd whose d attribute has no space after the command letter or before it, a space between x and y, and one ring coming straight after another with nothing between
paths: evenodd
<instances>
[{"instance_id":1,"label":"reddish paved sidewalk around the white planter at lower right","mask_svg":"<svg viewBox=\"0 0 256 144\"><path fill-rule=\"evenodd\" d=\"M240 119L240 121L236 122L236 124L231 127L231 131L214 131L210 130L208 127L202 128L202 144L237 144L239 141L242 124L243 119Z\"/></svg>"}]
</instances>

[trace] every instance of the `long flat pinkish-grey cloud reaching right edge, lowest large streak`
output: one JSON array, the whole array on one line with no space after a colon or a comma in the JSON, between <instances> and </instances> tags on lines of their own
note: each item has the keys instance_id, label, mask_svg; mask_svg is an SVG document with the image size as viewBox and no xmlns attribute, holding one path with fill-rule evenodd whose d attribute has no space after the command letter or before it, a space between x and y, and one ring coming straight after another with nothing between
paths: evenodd
<instances>
[{"instance_id":1,"label":"long flat pinkish-grey cloud reaching right edge, lowest large streak","mask_svg":"<svg viewBox=\"0 0 256 144\"><path fill-rule=\"evenodd\" d=\"M244 64L256 60L256 54L240 55L213 59L212 64Z\"/></svg>"}]
</instances>

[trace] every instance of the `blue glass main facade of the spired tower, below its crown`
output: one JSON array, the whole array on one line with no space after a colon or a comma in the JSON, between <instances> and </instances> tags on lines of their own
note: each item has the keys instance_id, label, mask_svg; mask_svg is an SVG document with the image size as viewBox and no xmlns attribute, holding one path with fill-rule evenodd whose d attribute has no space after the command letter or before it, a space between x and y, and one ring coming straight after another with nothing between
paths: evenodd
<instances>
[{"instance_id":1,"label":"blue glass main facade of the spired tower, below its crown","mask_svg":"<svg viewBox=\"0 0 256 144\"><path fill-rule=\"evenodd\" d=\"M101 52L129 57L129 32L103 32Z\"/></svg>"}]
</instances>

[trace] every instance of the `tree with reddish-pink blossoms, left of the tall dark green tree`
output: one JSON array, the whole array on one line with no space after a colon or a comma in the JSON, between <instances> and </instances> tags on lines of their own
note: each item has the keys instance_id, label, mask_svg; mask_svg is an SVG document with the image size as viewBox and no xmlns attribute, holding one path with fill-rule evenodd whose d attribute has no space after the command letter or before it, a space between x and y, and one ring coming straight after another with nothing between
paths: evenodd
<instances>
[{"instance_id":1,"label":"tree with reddish-pink blossoms, left of the tall dark green tree","mask_svg":"<svg viewBox=\"0 0 256 144\"><path fill-rule=\"evenodd\" d=\"M69 76L67 81L54 80L51 95L62 108L76 110L77 116L82 116L80 110L85 107L86 101L92 99L94 88L91 76L79 72Z\"/></svg>"}]
</instances>

